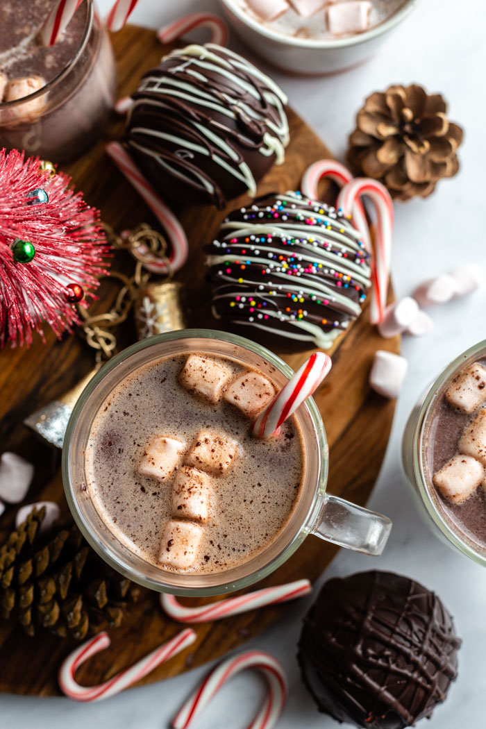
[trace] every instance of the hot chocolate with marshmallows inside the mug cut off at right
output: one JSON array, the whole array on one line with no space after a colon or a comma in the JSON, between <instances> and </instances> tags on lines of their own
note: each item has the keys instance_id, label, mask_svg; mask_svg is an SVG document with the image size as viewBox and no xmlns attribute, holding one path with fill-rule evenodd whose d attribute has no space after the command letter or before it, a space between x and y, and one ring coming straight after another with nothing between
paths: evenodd
<instances>
[{"instance_id":1,"label":"hot chocolate with marshmallows inside the mug cut off at right","mask_svg":"<svg viewBox=\"0 0 486 729\"><path fill-rule=\"evenodd\" d=\"M452 530L486 549L486 357L438 394L424 439L428 486Z\"/></svg>"}]
</instances>

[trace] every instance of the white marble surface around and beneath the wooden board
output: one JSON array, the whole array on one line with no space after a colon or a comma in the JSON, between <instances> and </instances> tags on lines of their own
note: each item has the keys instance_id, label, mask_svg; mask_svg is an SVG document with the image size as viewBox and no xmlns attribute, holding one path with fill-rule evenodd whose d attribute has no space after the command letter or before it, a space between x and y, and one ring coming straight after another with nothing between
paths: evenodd
<instances>
[{"instance_id":1,"label":"white marble surface around and beneath the wooden board","mask_svg":"<svg viewBox=\"0 0 486 729\"><path fill-rule=\"evenodd\" d=\"M103 12L111 0L100 1ZM423 0L389 39L380 55L359 69L332 78L302 79L273 74L289 93L291 104L337 155L361 100L391 83L420 82L441 91L450 102L450 117L466 128L460 149L458 177L439 184L432 198L396 206L393 274L396 292L406 295L427 276L460 262L477 261L486 268L484 164L486 107L479 69L486 65L482 0L468 0L467 12L455 0ZM133 22L160 26L193 9L213 9L211 1L140 0ZM235 38L233 47L238 49ZM482 75L482 74L481 74ZM466 347L486 335L486 289L431 311L435 330L426 339L404 338L409 373L399 398L385 463L371 505L391 516L390 542L380 559L341 550L324 577L363 569L391 569L409 574L436 590L455 616L463 638L459 678L444 706L436 709L427 729L482 729L485 726L486 574L476 564L447 549L420 522L400 465L400 441L409 410L426 383ZM295 646L300 619L310 599L294 604L286 617L248 644L272 652L286 668L290 695L279 729L332 729L337 724L319 715L299 680ZM34 648L35 650L35 648ZM28 657L26 656L26 660ZM2 729L163 729L205 668L177 679L130 690L91 705L65 698L0 696ZM230 682L195 726L240 729L248 725L262 697L259 679L251 673ZM425 722L424 722L425 725Z\"/></svg>"}]
</instances>

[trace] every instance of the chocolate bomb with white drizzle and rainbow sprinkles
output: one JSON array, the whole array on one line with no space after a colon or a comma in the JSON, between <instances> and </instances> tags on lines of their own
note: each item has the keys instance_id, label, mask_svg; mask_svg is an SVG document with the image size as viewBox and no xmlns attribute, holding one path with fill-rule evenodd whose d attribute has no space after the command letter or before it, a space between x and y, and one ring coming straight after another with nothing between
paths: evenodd
<instances>
[{"instance_id":1,"label":"chocolate bomb with white drizzle and rainbow sprinkles","mask_svg":"<svg viewBox=\"0 0 486 729\"><path fill-rule=\"evenodd\" d=\"M233 211L205 250L213 316L281 351L329 348L371 285L359 233L300 192Z\"/></svg>"}]
</instances>

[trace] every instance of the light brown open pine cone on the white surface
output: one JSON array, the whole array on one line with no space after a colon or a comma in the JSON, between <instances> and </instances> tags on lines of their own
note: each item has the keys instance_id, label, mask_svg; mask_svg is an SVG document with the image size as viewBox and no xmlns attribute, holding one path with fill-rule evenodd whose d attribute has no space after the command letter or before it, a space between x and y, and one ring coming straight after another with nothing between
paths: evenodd
<instances>
[{"instance_id":1,"label":"light brown open pine cone on the white surface","mask_svg":"<svg viewBox=\"0 0 486 729\"><path fill-rule=\"evenodd\" d=\"M350 135L348 164L353 174L383 182L397 200L426 198L442 177L459 168L463 130L447 120L440 94L421 86L391 86L368 96Z\"/></svg>"}]
</instances>

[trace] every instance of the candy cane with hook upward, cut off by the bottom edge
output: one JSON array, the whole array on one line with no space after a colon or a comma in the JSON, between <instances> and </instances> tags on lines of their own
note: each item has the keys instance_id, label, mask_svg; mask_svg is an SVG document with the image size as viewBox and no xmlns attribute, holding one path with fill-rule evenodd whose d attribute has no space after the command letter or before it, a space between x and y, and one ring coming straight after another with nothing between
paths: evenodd
<instances>
[{"instance_id":1,"label":"candy cane with hook upward, cut off by the bottom edge","mask_svg":"<svg viewBox=\"0 0 486 729\"><path fill-rule=\"evenodd\" d=\"M267 679L268 691L262 708L248 729L272 729L278 722L287 698L287 680L281 664L268 653L258 650L227 658L213 668L200 687L193 693L172 722L173 729L188 729L208 705L216 692L235 674L255 668Z\"/></svg>"}]
</instances>

